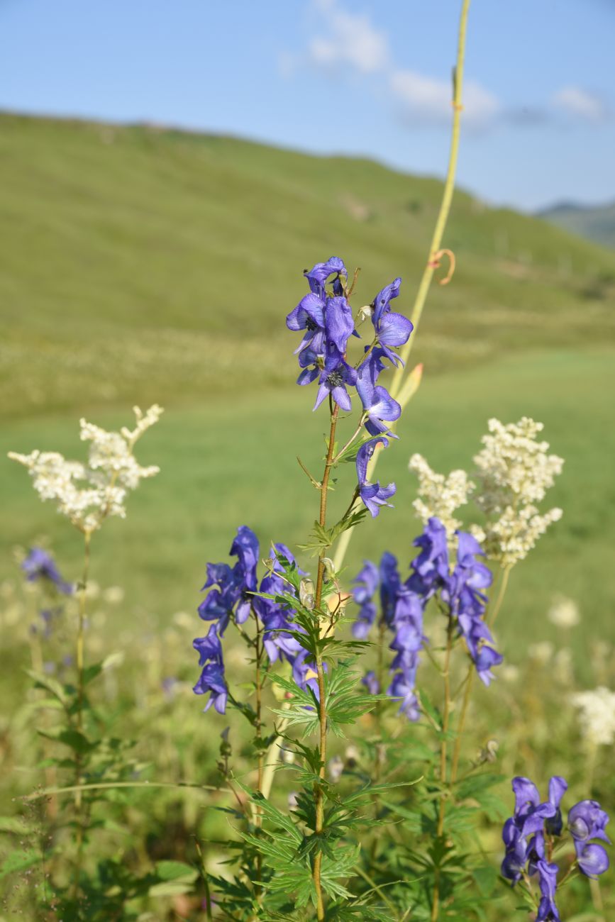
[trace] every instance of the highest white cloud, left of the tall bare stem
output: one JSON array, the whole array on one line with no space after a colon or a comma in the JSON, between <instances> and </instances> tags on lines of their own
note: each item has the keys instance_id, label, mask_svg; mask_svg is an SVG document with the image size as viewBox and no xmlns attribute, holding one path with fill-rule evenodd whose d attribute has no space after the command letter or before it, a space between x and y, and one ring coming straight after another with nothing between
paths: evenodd
<instances>
[{"instance_id":1,"label":"highest white cloud, left of the tall bare stem","mask_svg":"<svg viewBox=\"0 0 615 922\"><path fill-rule=\"evenodd\" d=\"M337 6L335 0L316 0L315 6L325 18L325 35L308 45L313 64L327 69L350 65L361 74L381 71L389 57L388 41L367 16L354 15Z\"/></svg>"}]
</instances>

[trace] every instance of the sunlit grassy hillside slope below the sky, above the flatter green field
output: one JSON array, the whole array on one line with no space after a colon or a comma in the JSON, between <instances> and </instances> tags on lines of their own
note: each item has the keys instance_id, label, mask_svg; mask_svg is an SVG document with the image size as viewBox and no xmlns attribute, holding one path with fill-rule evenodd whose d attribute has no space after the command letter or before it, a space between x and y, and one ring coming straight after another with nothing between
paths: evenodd
<instances>
[{"instance_id":1,"label":"sunlit grassy hillside slope below the sky, above the flatter green field","mask_svg":"<svg viewBox=\"0 0 615 922\"><path fill-rule=\"evenodd\" d=\"M0 116L0 412L205 402L288 381L302 268L404 278L441 183L228 137ZM432 369L613 333L612 254L457 193L416 355ZM359 301L357 306L360 306Z\"/></svg>"}]
</instances>

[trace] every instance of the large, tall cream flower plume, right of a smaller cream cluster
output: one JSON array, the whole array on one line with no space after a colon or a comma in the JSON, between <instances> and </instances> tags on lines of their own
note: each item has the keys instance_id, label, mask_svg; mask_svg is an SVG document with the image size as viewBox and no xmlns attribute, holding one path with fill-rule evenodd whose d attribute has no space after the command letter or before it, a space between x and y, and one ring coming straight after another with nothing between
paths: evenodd
<instances>
[{"instance_id":1,"label":"large, tall cream flower plume, right of a smaller cream cluster","mask_svg":"<svg viewBox=\"0 0 615 922\"><path fill-rule=\"evenodd\" d=\"M562 518L561 509L541 514L537 507L563 466L562 458L547 454L549 443L537 441L542 428L527 417L508 425L489 420L484 447L474 458L475 499L488 519L485 550L503 566L522 561L550 523Z\"/></svg>"}]
</instances>

